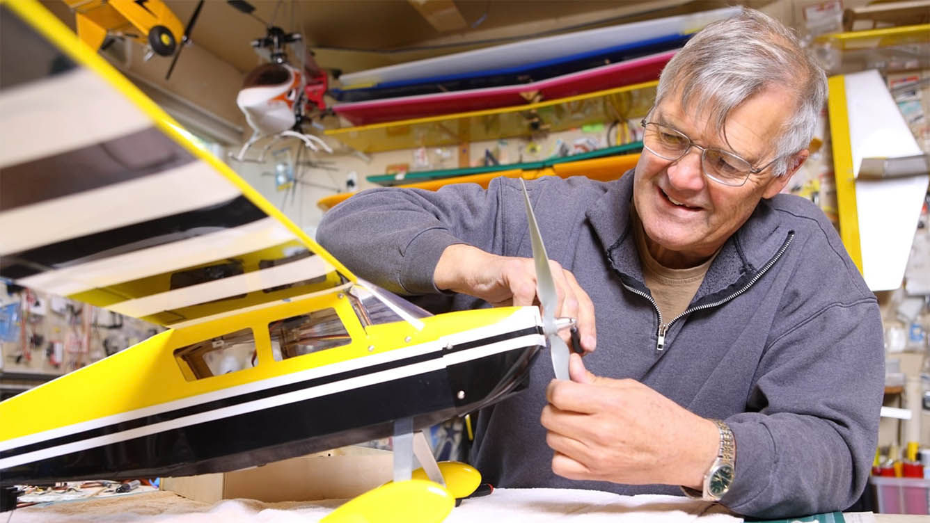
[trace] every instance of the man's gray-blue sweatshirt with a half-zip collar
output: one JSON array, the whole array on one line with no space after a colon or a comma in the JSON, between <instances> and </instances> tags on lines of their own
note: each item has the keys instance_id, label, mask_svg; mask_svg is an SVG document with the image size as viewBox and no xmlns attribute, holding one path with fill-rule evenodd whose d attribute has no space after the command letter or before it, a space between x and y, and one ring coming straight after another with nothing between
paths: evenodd
<instances>
[{"instance_id":1,"label":"man's gray-blue sweatshirt with a half-zip collar","mask_svg":"<svg viewBox=\"0 0 930 523\"><path fill-rule=\"evenodd\" d=\"M527 182L548 255L594 302L591 373L632 378L684 408L724 419L737 440L736 480L721 500L737 513L802 516L842 510L869 477L883 397L882 323L874 294L815 205L762 201L725 242L693 301L668 324L643 283L631 231L632 176L614 182ZM432 272L446 246L532 256L519 181L442 190L377 189L324 216L318 241L365 279L434 311L487 307L442 294ZM472 464L503 488L561 487L681 494L667 485L575 481L551 472L539 414L547 355L530 387L480 412ZM681 445L688 445L682 441Z\"/></svg>"}]
</instances>

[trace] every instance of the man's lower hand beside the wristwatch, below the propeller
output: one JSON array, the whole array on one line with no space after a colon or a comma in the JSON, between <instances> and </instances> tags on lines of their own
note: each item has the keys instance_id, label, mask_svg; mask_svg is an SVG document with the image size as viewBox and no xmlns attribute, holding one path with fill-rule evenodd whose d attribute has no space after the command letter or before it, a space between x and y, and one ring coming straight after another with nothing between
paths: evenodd
<instances>
[{"instance_id":1,"label":"man's lower hand beside the wristwatch, below the propeller","mask_svg":"<svg viewBox=\"0 0 930 523\"><path fill-rule=\"evenodd\" d=\"M720 436L708 419L631 380L595 376L572 354L571 381L552 380L540 421L552 472L569 479L700 490Z\"/></svg>"}]
</instances>

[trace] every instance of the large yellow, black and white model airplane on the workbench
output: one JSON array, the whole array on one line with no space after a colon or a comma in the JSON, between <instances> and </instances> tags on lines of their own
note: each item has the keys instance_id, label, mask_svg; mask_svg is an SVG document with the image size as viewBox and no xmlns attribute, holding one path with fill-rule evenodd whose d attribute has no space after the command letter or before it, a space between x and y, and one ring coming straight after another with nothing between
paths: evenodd
<instances>
[{"instance_id":1,"label":"large yellow, black and white model airplane on the workbench","mask_svg":"<svg viewBox=\"0 0 930 523\"><path fill-rule=\"evenodd\" d=\"M432 316L356 278L44 7L0 0L0 31L0 277L169 328L0 403L7 494L416 450L558 338L537 307ZM477 487L421 452L433 481L409 479L412 452L331 520L441 520Z\"/></svg>"}]
</instances>

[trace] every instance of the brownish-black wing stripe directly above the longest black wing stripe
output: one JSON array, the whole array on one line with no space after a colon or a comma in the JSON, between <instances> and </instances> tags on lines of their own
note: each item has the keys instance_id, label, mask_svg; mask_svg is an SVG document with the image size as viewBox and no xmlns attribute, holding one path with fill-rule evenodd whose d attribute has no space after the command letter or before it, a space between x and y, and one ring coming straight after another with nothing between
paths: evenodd
<instances>
[{"instance_id":1,"label":"brownish-black wing stripe directly above the longest black wing stripe","mask_svg":"<svg viewBox=\"0 0 930 523\"><path fill-rule=\"evenodd\" d=\"M0 170L0 212L193 162L193 156L154 127ZM67 216L61 216L67 219Z\"/></svg>"}]
</instances>

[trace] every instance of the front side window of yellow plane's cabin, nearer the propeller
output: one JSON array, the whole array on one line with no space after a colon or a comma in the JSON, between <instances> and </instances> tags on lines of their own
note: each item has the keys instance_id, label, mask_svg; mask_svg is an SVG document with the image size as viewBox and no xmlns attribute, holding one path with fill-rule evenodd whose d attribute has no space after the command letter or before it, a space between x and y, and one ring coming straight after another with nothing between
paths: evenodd
<instances>
[{"instance_id":1,"label":"front side window of yellow plane's cabin, nearer the propeller","mask_svg":"<svg viewBox=\"0 0 930 523\"><path fill-rule=\"evenodd\" d=\"M268 333L272 337L272 353L276 361L352 343L335 308L272 321L268 324Z\"/></svg>"}]
</instances>

